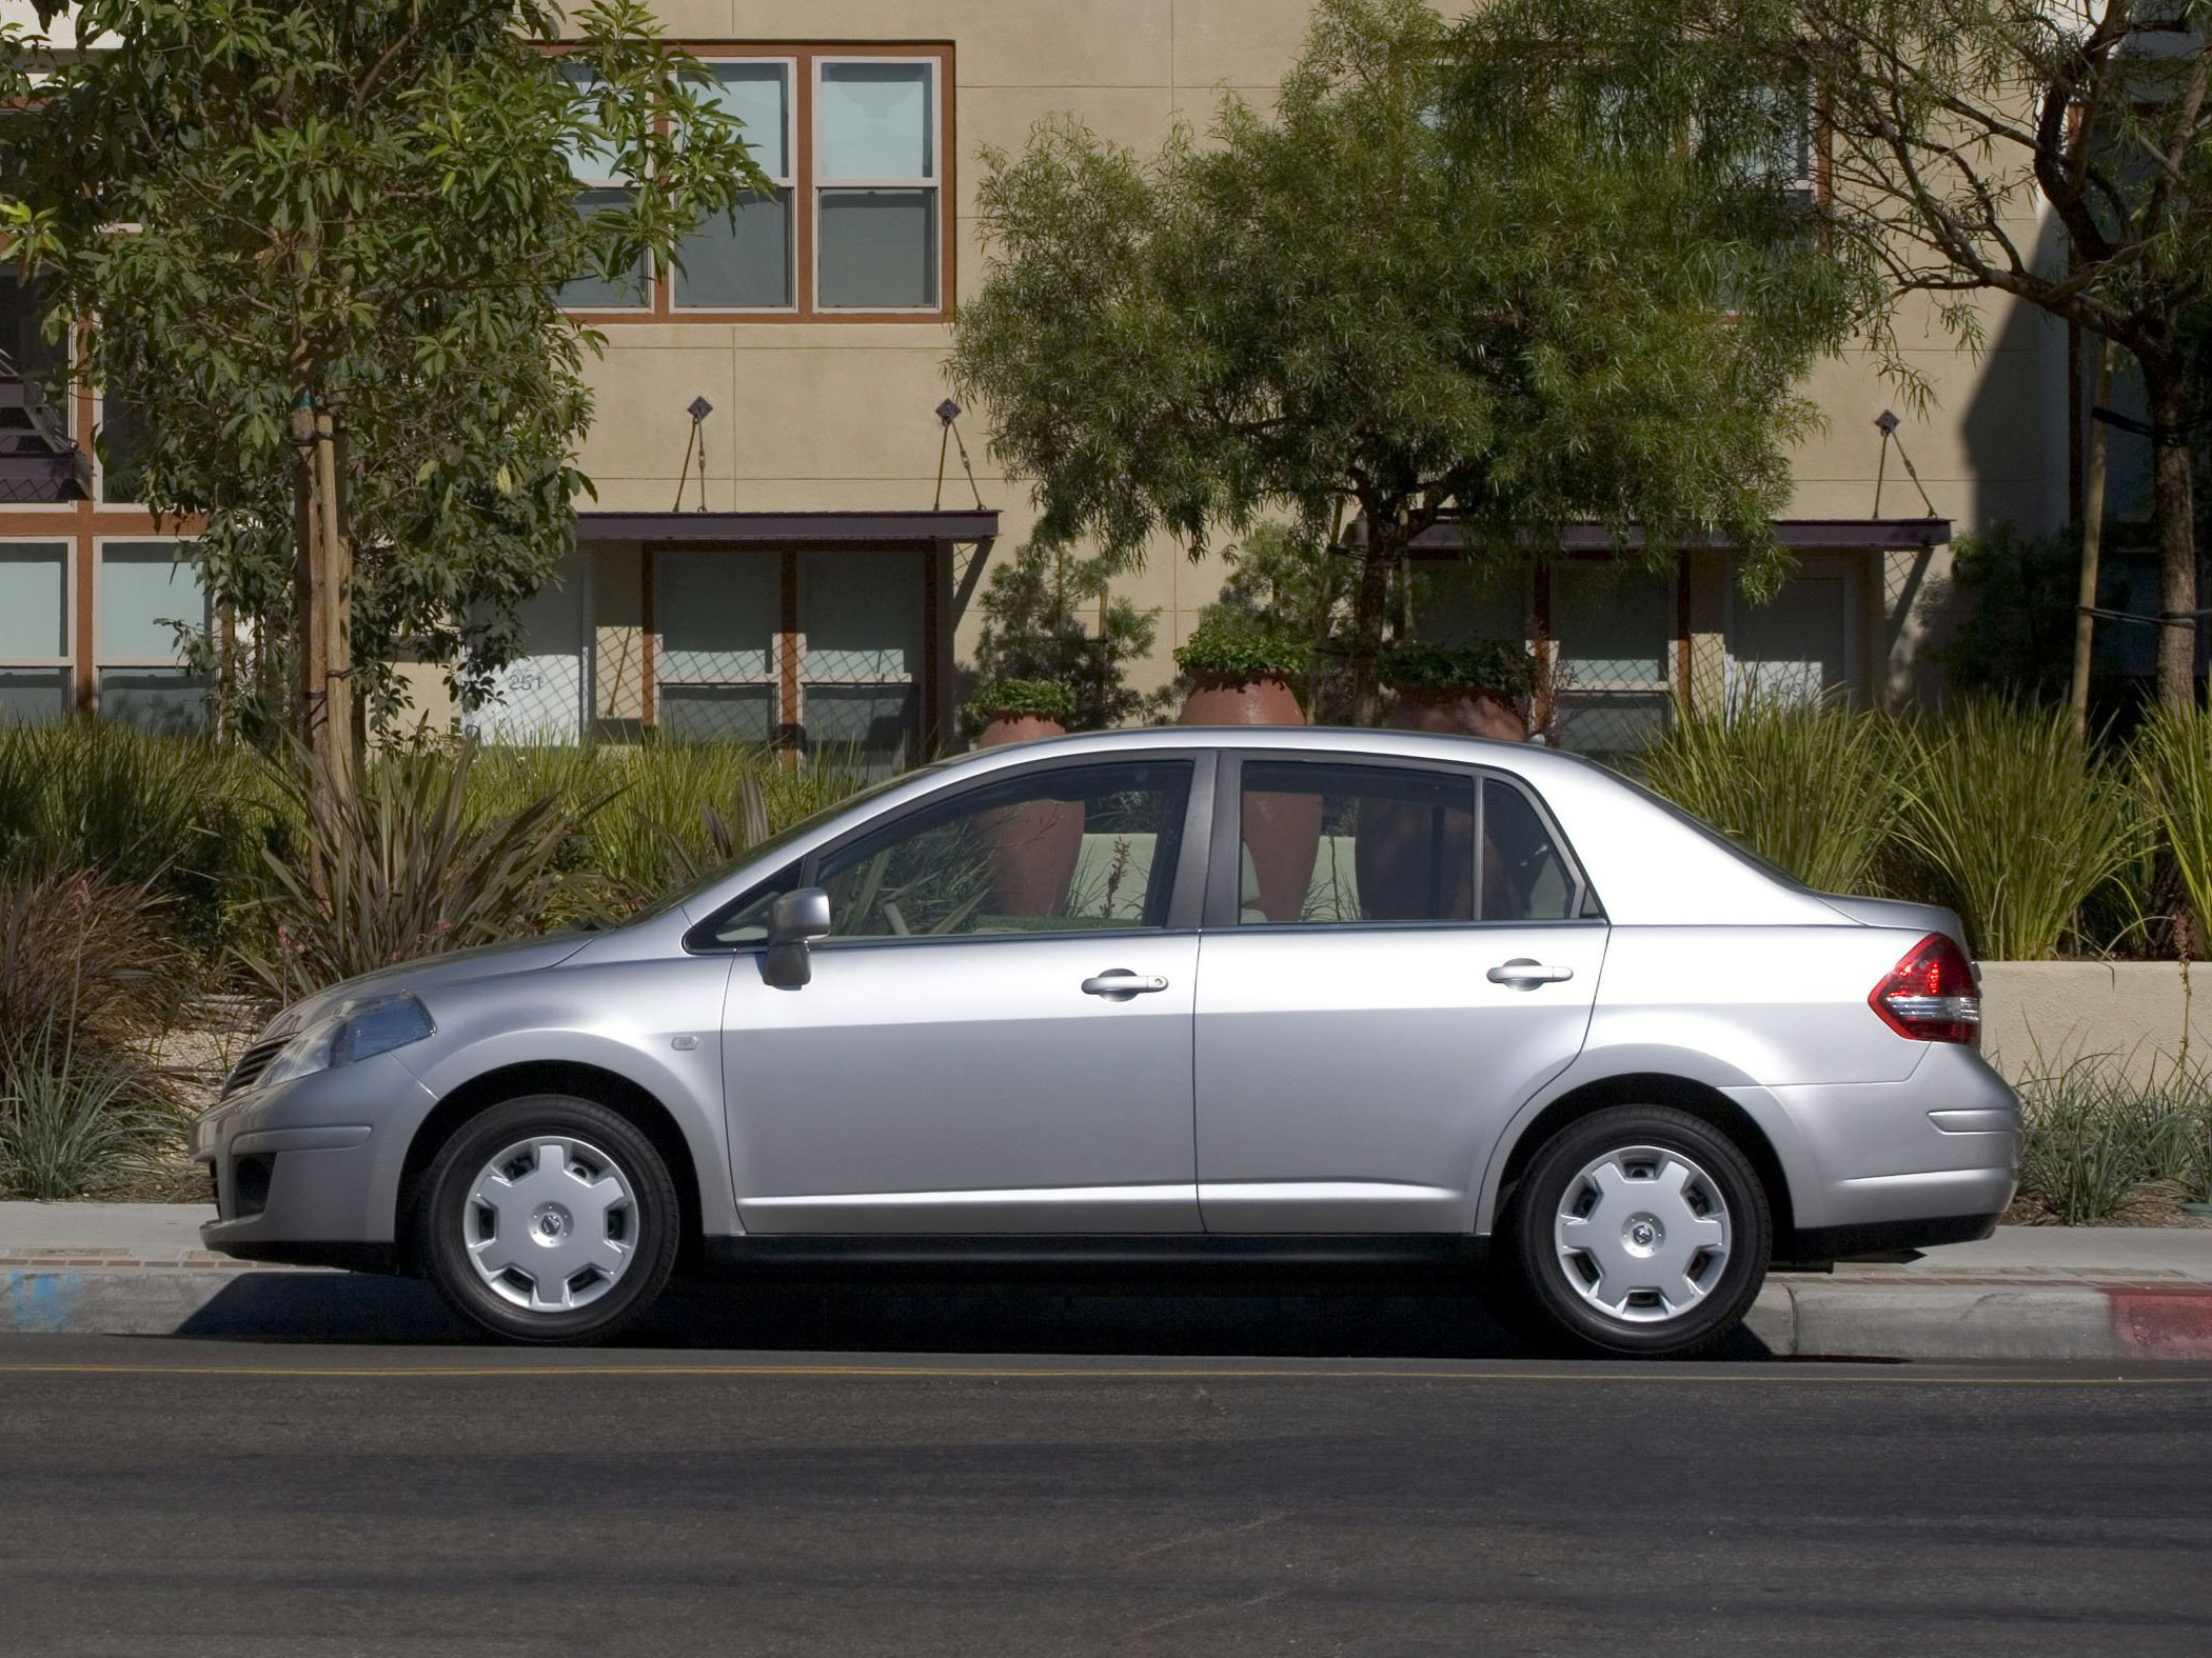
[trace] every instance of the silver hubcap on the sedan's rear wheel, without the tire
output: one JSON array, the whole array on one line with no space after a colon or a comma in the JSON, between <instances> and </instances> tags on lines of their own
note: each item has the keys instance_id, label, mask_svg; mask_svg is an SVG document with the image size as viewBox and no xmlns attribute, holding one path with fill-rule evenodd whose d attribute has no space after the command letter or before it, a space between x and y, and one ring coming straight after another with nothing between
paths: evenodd
<instances>
[{"instance_id":1,"label":"silver hubcap on the sedan's rear wheel, without the tire","mask_svg":"<svg viewBox=\"0 0 2212 1658\"><path fill-rule=\"evenodd\" d=\"M1566 1183L1551 1236L1568 1287L1624 1324L1663 1324L1705 1300L1732 1242L1719 1183L1657 1145L1586 1163Z\"/></svg>"}]
</instances>

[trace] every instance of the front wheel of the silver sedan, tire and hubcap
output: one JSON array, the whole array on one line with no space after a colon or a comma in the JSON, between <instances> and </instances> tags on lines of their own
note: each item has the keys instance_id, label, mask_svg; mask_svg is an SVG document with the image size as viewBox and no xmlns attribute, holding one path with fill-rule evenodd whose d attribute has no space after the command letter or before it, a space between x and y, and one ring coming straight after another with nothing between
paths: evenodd
<instances>
[{"instance_id":1,"label":"front wheel of the silver sedan, tire and hubcap","mask_svg":"<svg viewBox=\"0 0 2212 1658\"><path fill-rule=\"evenodd\" d=\"M465 1320L507 1342L604 1342L675 1271L681 1203L635 1123L531 1094L465 1121L422 1178L418 1258Z\"/></svg>"}]
</instances>

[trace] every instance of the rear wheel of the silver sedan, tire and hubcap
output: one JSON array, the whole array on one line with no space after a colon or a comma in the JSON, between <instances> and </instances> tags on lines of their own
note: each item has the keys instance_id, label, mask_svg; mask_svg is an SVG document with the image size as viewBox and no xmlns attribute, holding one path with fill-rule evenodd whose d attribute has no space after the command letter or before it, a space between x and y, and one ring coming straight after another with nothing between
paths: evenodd
<instances>
[{"instance_id":1,"label":"rear wheel of the silver sedan, tire and hubcap","mask_svg":"<svg viewBox=\"0 0 2212 1658\"><path fill-rule=\"evenodd\" d=\"M1686 1360L1734 1333L1774 1249L1741 1147L1670 1105L1610 1105L1537 1147L1498 1234L1509 1329L1579 1357Z\"/></svg>"}]
</instances>

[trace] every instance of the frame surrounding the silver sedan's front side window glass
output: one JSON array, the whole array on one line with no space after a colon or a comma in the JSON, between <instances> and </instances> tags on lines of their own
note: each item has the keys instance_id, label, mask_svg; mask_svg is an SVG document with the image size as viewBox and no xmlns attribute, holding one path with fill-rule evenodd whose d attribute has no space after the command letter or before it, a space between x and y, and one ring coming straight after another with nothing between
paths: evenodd
<instances>
[{"instance_id":1,"label":"frame surrounding the silver sedan's front side window glass","mask_svg":"<svg viewBox=\"0 0 2212 1658\"><path fill-rule=\"evenodd\" d=\"M880 829L894 829L907 818L920 816L925 811L938 811L962 794L975 789L991 789L1011 778L1035 778L1051 772L1093 772L1102 765L1161 765L1161 763L1186 763L1190 765L1190 796L1183 800L1183 840L1177 847L1175 871L1170 873L1168 889L1168 920L1164 926L1099 926L1084 928L1079 933L958 933L958 935L920 935L920 937L825 937L816 940L812 948L816 951L843 951L843 948L911 948L918 944L1033 944L1033 942L1055 942L1055 940L1117 940L1117 937L1166 937L1170 933L1194 933L1199 931L1199 913L1206 898L1206 867L1212 844L1212 816L1214 816L1214 789L1219 774L1219 754L1214 749L1186 749L1186 747L1157 747L1157 749L1130 749L1130 752L1108 752L1108 754L1062 754L1048 760L1029 760L1024 765L993 767L982 776L960 776L949 780L940 789L916 796L889 811L878 811L847 829L841 829L830 840L807 849L799 860L799 886L821 884L823 858L830 858L854 840L872 836ZM770 871L763 880L781 873ZM690 955L759 955L765 944L723 944L714 937L714 928L745 900L750 900L761 889L754 882L737 898L717 904L706 920L697 922L684 933L684 948Z\"/></svg>"}]
</instances>

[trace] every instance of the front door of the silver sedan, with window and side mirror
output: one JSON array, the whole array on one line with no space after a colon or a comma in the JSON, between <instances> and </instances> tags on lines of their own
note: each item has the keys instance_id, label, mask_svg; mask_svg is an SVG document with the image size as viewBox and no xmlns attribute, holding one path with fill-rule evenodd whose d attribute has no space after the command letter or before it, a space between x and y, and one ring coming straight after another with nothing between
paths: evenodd
<instances>
[{"instance_id":1,"label":"front door of the silver sedan, with window and side mirror","mask_svg":"<svg viewBox=\"0 0 2212 1658\"><path fill-rule=\"evenodd\" d=\"M739 959L723 1017L748 1231L1199 1229L1201 765L1020 767L790 871L830 893L812 979ZM770 895L732 909L726 942Z\"/></svg>"}]
</instances>

